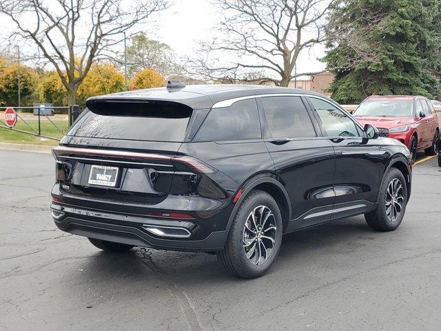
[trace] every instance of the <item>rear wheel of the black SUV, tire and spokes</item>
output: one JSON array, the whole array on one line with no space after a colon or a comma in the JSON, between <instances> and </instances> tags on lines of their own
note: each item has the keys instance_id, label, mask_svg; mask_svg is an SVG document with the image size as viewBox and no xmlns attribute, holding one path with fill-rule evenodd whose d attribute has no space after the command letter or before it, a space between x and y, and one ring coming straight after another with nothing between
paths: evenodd
<instances>
[{"instance_id":1,"label":"rear wheel of the black SUV, tire and spokes","mask_svg":"<svg viewBox=\"0 0 441 331\"><path fill-rule=\"evenodd\" d=\"M252 213L257 212L264 214L266 212L265 216L269 214L266 209L264 212L260 212L259 210L264 210L264 208L260 207L265 207L269 210L269 212L272 213L270 217L267 218L267 222L263 222L265 223L263 228L271 227L271 225L274 223L274 227L276 229L267 230L268 232L265 232L265 229L256 229L256 232L246 233L247 230L245 230L245 223L249 221L249 217ZM265 217L262 217L261 219L265 219ZM258 222L259 219L256 219L256 221ZM259 226L257 226L257 228L260 229ZM282 243L282 232L282 216L276 201L267 192L254 190L250 192L250 194L245 197L245 200L240 204L240 207L238 208L238 211L234 217L232 226L229 230L228 240L225 244L225 248L217 253L218 259L229 273L234 274L237 277L248 279L260 277L265 274L269 268L271 268L271 265L273 265L274 261L276 260L280 250L280 244ZM254 242L254 253L250 257L247 257L245 253L247 248L244 247L243 243L245 237L251 233L256 235L254 240L248 238L250 239L249 243ZM266 239L267 237L263 237L265 239L260 239L260 234L267 235L268 233L271 233L271 238L274 237L274 243L272 243L272 241L268 241L268 239ZM271 246L272 248L269 247L267 250L267 248L265 248L266 245ZM271 252L268 253L269 250L271 250ZM249 249L248 254L249 252L252 252L252 248ZM263 252L267 254L265 256L265 261L262 261ZM254 264L252 259L256 259L257 264ZM260 263L260 261L262 262Z\"/></svg>"}]
</instances>

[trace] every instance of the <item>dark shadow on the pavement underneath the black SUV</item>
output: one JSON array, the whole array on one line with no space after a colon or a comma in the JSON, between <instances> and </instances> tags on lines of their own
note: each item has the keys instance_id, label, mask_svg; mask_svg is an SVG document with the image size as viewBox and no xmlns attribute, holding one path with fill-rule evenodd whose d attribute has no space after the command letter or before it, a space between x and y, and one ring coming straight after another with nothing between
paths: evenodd
<instances>
[{"instance_id":1,"label":"dark shadow on the pavement underneath the black SUV","mask_svg":"<svg viewBox=\"0 0 441 331\"><path fill-rule=\"evenodd\" d=\"M269 274L278 270L296 272L299 264L323 259L326 254L353 252L369 245L378 235L368 227L364 217L332 221L287 234L283 237L279 257ZM90 259L87 263L84 268L94 270L89 277L95 281L121 277L130 281L151 276L169 283L197 282L199 285L205 282L241 281L227 274L215 255L203 252L133 248L125 254L97 252L96 259Z\"/></svg>"}]
</instances>

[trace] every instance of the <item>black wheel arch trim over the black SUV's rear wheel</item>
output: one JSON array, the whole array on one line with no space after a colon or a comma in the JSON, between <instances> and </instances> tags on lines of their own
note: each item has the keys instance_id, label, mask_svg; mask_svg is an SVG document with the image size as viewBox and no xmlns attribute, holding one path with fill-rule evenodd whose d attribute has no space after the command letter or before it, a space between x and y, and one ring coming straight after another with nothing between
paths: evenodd
<instances>
[{"instance_id":1,"label":"black wheel arch trim over the black SUV's rear wheel","mask_svg":"<svg viewBox=\"0 0 441 331\"><path fill-rule=\"evenodd\" d=\"M263 192L267 192L271 197L276 200L278 204L278 208L280 210L280 214L282 214L283 221L283 230L285 231L289 220L291 219L291 201L289 199L289 195L285 187L280 181L274 178L273 174L264 174L261 177L250 179L240 186L243 189L243 193L240 195L240 198L235 203L232 213L229 216L227 230L232 225L234 220L234 215L236 214L238 208L240 207L240 203L247 197L247 195L252 192L252 190L260 190Z\"/></svg>"}]
</instances>

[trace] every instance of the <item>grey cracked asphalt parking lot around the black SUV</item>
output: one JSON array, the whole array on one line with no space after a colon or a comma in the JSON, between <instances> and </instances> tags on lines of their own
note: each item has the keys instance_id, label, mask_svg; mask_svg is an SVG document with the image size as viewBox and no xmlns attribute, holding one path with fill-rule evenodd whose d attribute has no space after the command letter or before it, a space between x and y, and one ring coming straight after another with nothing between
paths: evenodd
<instances>
[{"instance_id":1,"label":"grey cracked asphalt parking lot around the black SUV","mask_svg":"<svg viewBox=\"0 0 441 331\"><path fill-rule=\"evenodd\" d=\"M413 168L396 232L363 217L284 237L271 271L209 254L105 254L50 217L50 154L0 151L0 330L440 330L441 168Z\"/></svg>"}]
</instances>

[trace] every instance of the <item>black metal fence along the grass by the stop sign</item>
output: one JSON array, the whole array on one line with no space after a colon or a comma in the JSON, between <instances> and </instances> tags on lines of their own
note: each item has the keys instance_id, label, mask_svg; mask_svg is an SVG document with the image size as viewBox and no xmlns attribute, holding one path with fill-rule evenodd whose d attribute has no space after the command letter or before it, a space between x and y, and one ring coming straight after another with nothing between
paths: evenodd
<instances>
[{"instance_id":1,"label":"black metal fence along the grass by the stop sign","mask_svg":"<svg viewBox=\"0 0 441 331\"><path fill-rule=\"evenodd\" d=\"M61 121L67 121L67 128L72 126L75 119L79 117L80 110L79 106L66 106L66 107L54 107L48 105L37 105L33 107L0 107L0 112L6 110L7 108L14 108L17 116L17 123L20 121L23 125L20 125L20 128L12 127L6 125L6 121L3 117L0 117L0 128L5 130L12 130L15 132L21 132L24 134L31 134L36 137L42 137L45 139L52 139L55 141L59 141L59 137L51 137L50 135L44 134L42 130L42 122L50 123L52 126L51 132L58 132L61 137L66 134L65 127L60 128L60 125L53 119L54 114L66 114L67 118L62 119ZM29 118L30 114L32 114L32 119ZM52 119L51 119L52 117ZM35 123L37 121L37 123ZM33 126L32 126L33 124ZM24 128L23 128L24 127Z\"/></svg>"}]
</instances>

